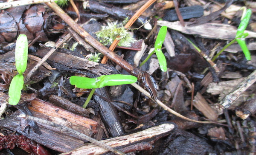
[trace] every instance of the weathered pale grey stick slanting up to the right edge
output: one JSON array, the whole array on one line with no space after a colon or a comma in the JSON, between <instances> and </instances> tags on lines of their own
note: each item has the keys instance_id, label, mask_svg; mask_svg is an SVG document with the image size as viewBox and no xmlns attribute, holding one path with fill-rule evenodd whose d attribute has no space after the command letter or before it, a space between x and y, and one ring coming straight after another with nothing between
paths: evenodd
<instances>
[{"instance_id":1,"label":"weathered pale grey stick slanting up to the right edge","mask_svg":"<svg viewBox=\"0 0 256 155\"><path fill-rule=\"evenodd\" d=\"M242 82L240 82L232 91L230 91L226 96L224 96L218 104L218 108L223 110L233 104L236 99L241 96L248 87L256 82L256 70L253 71L249 76L247 76Z\"/></svg>"}]
</instances>

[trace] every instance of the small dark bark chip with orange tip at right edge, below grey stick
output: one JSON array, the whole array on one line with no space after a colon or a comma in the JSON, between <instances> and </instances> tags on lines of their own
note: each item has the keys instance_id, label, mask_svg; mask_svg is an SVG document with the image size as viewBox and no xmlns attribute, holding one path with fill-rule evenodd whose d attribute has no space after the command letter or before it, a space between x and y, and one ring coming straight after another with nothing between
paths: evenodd
<instances>
[{"instance_id":1,"label":"small dark bark chip with orange tip at right edge, below grey stick","mask_svg":"<svg viewBox=\"0 0 256 155\"><path fill-rule=\"evenodd\" d=\"M256 96L249 101L246 101L236 108L236 116L246 119L250 115L256 113Z\"/></svg>"}]
</instances>

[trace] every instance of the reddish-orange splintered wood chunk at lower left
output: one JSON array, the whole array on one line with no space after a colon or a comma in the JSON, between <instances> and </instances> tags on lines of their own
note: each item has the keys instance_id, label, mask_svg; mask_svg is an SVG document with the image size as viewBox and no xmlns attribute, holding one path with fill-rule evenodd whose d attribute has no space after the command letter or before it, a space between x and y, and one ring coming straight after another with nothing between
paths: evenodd
<instances>
[{"instance_id":1,"label":"reddish-orange splintered wood chunk at lower left","mask_svg":"<svg viewBox=\"0 0 256 155\"><path fill-rule=\"evenodd\" d=\"M29 109L50 117L64 119L70 122L72 126L75 124L81 126L81 128L84 128L81 132L86 135L92 135L97 132L96 128L98 123L96 121L76 115L41 99L36 98L32 100Z\"/></svg>"}]
</instances>

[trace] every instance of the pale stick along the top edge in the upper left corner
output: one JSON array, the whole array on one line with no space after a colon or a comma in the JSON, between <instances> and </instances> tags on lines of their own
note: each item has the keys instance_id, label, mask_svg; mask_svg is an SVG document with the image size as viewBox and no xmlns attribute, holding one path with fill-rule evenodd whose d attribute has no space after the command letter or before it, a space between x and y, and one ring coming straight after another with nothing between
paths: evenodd
<instances>
[{"instance_id":1,"label":"pale stick along the top edge in the upper left corner","mask_svg":"<svg viewBox=\"0 0 256 155\"><path fill-rule=\"evenodd\" d=\"M29 4L45 3L45 2L54 2L54 0L18 0L13 2L0 3L0 10L16 7L16 6L25 6Z\"/></svg>"}]
</instances>

